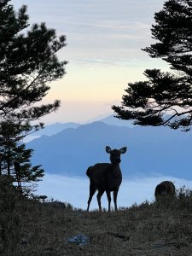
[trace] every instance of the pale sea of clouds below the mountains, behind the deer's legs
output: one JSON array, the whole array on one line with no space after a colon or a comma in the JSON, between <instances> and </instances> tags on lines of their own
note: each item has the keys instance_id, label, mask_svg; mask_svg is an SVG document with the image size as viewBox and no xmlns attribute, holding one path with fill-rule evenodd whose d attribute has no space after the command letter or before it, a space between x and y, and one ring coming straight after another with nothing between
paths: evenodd
<instances>
[{"instance_id":1,"label":"pale sea of clouds below the mountains, behind the deer's legs","mask_svg":"<svg viewBox=\"0 0 192 256\"><path fill-rule=\"evenodd\" d=\"M183 185L192 188L192 180L179 179L177 177L135 177L124 179L119 189L118 206L130 207L133 203L154 200L155 186L164 181L171 180L176 189ZM38 183L38 195L47 195L58 201L66 201L78 207L86 209L89 197L89 178L88 177L64 177L46 174L44 181ZM112 202L113 206L113 202ZM102 195L102 207L108 207L106 194ZM97 209L96 194L91 203L90 210Z\"/></svg>"}]
</instances>

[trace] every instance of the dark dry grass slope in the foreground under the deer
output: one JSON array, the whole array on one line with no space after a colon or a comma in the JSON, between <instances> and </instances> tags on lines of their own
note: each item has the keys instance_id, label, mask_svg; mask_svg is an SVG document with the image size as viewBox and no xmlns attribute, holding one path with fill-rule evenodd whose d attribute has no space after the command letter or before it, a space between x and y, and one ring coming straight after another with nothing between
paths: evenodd
<instances>
[{"instance_id":1,"label":"dark dry grass slope in the foreground under the deer","mask_svg":"<svg viewBox=\"0 0 192 256\"><path fill-rule=\"evenodd\" d=\"M28 201L10 190L0 199L3 256L192 255L188 189L180 189L175 200L146 201L110 213L84 212L57 201ZM88 244L68 241L78 235L88 237Z\"/></svg>"}]
</instances>

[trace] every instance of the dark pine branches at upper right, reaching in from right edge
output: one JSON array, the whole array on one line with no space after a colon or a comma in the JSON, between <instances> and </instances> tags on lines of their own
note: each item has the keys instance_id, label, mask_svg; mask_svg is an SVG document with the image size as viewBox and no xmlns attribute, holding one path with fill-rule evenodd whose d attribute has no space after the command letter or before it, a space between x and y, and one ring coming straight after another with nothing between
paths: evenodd
<instances>
[{"instance_id":1,"label":"dark pine branches at upper right, reaching in from right edge","mask_svg":"<svg viewBox=\"0 0 192 256\"><path fill-rule=\"evenodd\" d=\"M129 83L122 106L113 106L119 119L134 125L167 125L189 131L192 125L192 1L168 0L154 14L152 38L158 40L143 49L161 58L170 72L145 70L146 81Z\"/></svg>"}]
</instances>

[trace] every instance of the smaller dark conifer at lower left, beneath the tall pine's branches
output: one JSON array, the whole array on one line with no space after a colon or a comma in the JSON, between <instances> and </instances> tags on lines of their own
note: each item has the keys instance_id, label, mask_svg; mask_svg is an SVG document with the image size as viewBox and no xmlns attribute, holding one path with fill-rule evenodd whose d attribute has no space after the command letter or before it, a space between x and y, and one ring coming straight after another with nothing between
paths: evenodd
<instances>
[{"instance_id":1,"label":"smaller dark conifer at lower left, beneath the tall pine's branches","mask_svg":"<svg viewBox=\"0 0 192 256\"><path fill-rule=\"evenodd\" d=\"M32 166L31 157L33 149L26 149L26 144L22 143L24 127L19 124L2 122L0 125L0 156L1 156L1 173L8 175L17 181L15 172L15 162L20 164L20 181L22 183L38 182L44 177L44 170L39 166ZM30 125L25 131L31 129Z\"/></svg>"}]
</instances>

